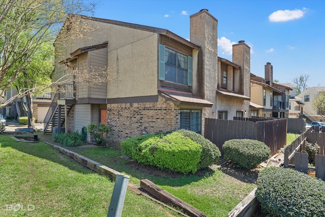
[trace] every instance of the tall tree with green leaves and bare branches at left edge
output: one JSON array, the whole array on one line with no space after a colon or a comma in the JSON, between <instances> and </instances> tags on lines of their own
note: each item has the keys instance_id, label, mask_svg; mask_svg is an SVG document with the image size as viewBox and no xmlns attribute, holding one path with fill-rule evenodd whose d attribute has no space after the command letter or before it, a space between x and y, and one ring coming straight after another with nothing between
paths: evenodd
<instances>
[{"instance_id":1,"label":"tall tree with green leaves and bare branches at left edge","mask_svg":"<svg viewBox=\"0 0 325 217\"><path fill-rule=\"evenodd\" d=\"M0 108L26 96L29 119L32 94L71 79L49 79L54 65L52 44L69 14L88 15L96 5L96 0L0 0L0 96L9 87L18 90ZM65 41L84 37L91 30L83 25L79 33L66 35Z\"/></svg>"}]
</instances>

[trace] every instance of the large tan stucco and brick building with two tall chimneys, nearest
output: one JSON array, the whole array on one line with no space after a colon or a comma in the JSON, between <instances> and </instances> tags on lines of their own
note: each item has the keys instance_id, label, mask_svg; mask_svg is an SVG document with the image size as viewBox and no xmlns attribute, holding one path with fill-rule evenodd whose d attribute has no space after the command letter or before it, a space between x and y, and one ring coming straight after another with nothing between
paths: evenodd
<instances>
[{"instance_id":1,"label":"large tan stucco and brick building with two tall chimneys, nearest","mask_svg":"<svg viewBox=\"0 0 325 217\"><path fill-rule=\"evenodd\" d=\"M73 34L70 23L96 30L60 43L60 35ZM147 133L188 129L204 135L204 118L248 117L250 47L240 41L232 61L218 57L217 23L205 9L191 15L188 41L167 29L70 16L54 43L53 79L67 70L102 69L109 70L109 79L66 84L75 91L53 98L45 133L61 127L81 132L102 122L111 127L109 145L120 148L121 141Z\"/></svg>"}]
</instances>

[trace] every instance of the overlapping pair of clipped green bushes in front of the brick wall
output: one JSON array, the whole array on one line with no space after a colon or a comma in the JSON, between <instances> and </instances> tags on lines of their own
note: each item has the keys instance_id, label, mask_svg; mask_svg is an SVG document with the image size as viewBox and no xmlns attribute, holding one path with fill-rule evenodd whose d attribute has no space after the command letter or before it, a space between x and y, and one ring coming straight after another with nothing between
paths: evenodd
<instances>
[{"instance_id":1,"label":"overlapping pair of clipped green bushes in front of the brick wall","mask_svg":"<svg viewBox=\"0 0 325 217\"><path fill-rule=\"evenodd\" d=\"M121 149L141 164L184 174L216 163L221 155L208 139L187 130L130 138L121 143Z\"/></svg>"}]
</instances>

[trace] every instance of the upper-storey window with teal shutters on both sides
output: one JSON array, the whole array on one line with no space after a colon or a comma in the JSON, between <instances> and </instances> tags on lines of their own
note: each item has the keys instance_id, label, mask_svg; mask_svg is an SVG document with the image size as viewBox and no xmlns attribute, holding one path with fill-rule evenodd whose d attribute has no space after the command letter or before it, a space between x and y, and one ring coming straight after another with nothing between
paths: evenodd
<instances>
[{"instance_id":1,"label":"upper-storey window with teal shutters on both sides","mask_svg":"<svg viewBox=\"0 0 325 217\"><path fill-rule=\"evenodd\" d=\"M192 85L192 57L159 45L159 80Z\"/></svg>"}]
</instances>

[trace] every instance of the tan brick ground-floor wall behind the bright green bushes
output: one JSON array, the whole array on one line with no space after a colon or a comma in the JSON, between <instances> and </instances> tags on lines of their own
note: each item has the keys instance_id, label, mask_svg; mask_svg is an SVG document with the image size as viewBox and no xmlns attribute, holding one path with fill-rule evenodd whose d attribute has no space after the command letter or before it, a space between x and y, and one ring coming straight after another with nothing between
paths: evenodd
<instances>
[{"instance_id":1,"label":"tan brick ground-floor wall behind the bright green bushes","mask_svg":"<svg viewBox=\"0 0 325 217\"><path fill-rule=\"evenodd\" d=\"M155 103L108 104L107 125L111 127L109 146L120 149L120 143L132 137L167 132L179 128L179 108L159 97Z\"/></svg>"}]
</instances>

